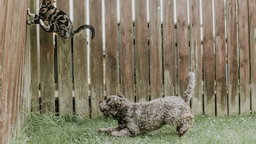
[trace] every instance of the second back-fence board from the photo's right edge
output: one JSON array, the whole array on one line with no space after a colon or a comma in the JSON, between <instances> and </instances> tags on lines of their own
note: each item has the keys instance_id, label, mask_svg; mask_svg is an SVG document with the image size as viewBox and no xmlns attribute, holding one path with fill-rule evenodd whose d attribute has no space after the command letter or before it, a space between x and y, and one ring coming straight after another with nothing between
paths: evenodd
<instances>
[{"instance_id":1,"label":"second back-fence board from the photo's right edge","mask_svg":"<svg viewBox=\"0 0 256 144\"><path fill-rule=\"evenodd\" d=\"M238 1L238 46L240 55L240 112L250 112L250 47L247 1Z\"/></svg>"}]
</instances>

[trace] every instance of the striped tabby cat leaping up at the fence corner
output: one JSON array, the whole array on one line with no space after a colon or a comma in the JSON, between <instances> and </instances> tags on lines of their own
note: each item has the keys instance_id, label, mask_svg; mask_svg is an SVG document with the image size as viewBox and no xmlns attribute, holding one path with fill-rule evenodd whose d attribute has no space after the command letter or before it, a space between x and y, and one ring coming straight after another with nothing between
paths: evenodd
<instances>
[{"instance_id":1,"label":"striped tabby cat leaping up at the fence corner","mask_svg":"<svg viewBox=\"0 0 256 144\"><path fill-rule=\"evenodd\" d=\"M91 30L91 39L94 38L95 29L93 26L83 25L78 27L77 30L73 30L69 16L54 6L54 0L42 0L39 14L31 14L30 8L27 9L27 14L34 18L32 21L26 22L28 25L40 23L43 30L46 32L55 32L62 38L74 37L74 35L86 29Z\"/></svg>"}]
</instances>

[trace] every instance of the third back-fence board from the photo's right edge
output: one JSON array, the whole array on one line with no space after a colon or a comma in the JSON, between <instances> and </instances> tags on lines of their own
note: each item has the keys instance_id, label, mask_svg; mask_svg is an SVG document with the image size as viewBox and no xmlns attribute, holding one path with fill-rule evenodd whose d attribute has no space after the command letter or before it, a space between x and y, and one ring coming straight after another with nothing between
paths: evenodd
<instances>
[{"instance_id":1,"label":"third back-fence board from the photo's right edge","mask_svg":"<svg viewBox=\"0 0 256 144\"><path fill-rule=\"evenodd\" d=\"M236 2L226 1L226 36L228 51L228 109L230 115L239 114L238 95L238 30Z\"/></svg>"}]
</instances>

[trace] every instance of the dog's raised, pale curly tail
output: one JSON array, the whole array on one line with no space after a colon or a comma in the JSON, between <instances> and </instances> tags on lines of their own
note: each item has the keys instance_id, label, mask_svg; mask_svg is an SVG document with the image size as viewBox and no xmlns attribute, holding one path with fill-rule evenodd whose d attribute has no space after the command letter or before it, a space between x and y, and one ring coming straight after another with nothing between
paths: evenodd
<instances>
[{"instance_id":1,"label":"dog's raised, pale curly tail","mask_svg":"<svg viewBox=\"0 0 256 144\"><path fill-rule=\"evenodd\" d=\"M184 92L184 95L183 95L183 99L185 102L190 102L190 98L192 97L192 94L194 93L195 76L192 71L189 72L189 78L190 78L190 82Z\"/></svg>"}]
</instances>

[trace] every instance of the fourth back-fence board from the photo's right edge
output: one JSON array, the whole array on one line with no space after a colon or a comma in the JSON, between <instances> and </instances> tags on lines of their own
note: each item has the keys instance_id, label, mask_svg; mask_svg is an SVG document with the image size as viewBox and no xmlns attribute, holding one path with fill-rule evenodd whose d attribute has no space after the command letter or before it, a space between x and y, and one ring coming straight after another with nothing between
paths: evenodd
<instances>
[{"instance_id":1,"label":"fourth back-fence board from the photo's right edge","mask_svg":"<svg viewBox=\"0 0 256 144\"><path fill-rule=\"evenodd\" d=\"M217 114L227 115L226 94L226 38L224 2L214 1L215 50L216 50L216 102Z\"/></svg>"}]
</instances>

